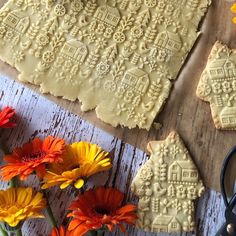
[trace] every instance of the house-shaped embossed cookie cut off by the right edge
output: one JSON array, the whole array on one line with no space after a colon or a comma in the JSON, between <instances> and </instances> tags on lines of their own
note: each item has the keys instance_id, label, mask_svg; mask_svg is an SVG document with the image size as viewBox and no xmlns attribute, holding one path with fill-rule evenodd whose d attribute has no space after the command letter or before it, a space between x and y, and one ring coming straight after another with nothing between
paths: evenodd
<instances>
[{"instance_id":1,"label":"house-shaped embossed cookie cut off by the right edge","mask_svg":"<svg viewBox=\"0 0 236 236\"><path fill-rule=\"evenodd\" d=\"M216 42L197 88L217 129L236 130L236 51Z\"/></svg>"}]
</instances>

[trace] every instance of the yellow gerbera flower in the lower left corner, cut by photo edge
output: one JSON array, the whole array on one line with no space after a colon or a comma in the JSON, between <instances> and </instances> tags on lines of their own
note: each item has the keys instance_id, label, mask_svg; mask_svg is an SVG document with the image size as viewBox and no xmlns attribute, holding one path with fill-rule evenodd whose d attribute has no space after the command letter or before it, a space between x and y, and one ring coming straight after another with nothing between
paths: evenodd
<instances>
[{"instance_id":1,"label":"yellow gerbera flower in the lower left corner, cut by photo edge","mask_svg":"<svg viewBox=\"0 0 236 236\"><path fill-rule=\"evenodd\" d=\"M0 221L11 227L28 218L43 218L40 213L46 206L41 193L33 193L32 188L9 188L0 190Z\"/></svg>"}]
</instances>

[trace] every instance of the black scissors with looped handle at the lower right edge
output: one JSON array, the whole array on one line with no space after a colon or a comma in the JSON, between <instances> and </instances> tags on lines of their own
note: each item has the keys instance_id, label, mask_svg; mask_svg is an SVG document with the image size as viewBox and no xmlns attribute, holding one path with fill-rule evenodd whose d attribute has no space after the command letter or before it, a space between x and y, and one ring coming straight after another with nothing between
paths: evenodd
<instances>
[{"instance_id":1,"label":"black scissors with looped handle at the lower right edge","mask_svg":"<svg viewBox=\"0 0 236 236\"><path fill-rule=\"evenodd\" d=\"M236 205L236 193L233 194L230 200L227 198L225 190L225 174L230 160L236 154L236 146L234 146L230 152L225 157L222 165L221 175L220 175L220 187L222 192L222 197L225 203L225 223L221 226L216 236L236 236L236 214L233 209Z\"/></svg>"}]
</instances>

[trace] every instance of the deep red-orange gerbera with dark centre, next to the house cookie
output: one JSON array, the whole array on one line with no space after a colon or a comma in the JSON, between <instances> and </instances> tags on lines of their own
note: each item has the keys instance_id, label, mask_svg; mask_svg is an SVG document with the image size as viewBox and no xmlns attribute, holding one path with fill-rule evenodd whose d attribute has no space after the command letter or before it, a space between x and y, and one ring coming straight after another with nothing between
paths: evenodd
<instances>
[{"instance_id":1,"label":"deep red-orange gerbera with dark centre, next to the house cookie","mask_svg":"<svg viewBox=\"0 0 236 236\"><path fill-rule=\"evenodd\" d=\"M71 236L84 235L90 230L107 227L110 231L118 225L125 231L123 223L135 224L136 206L128 204L122 206L124 194L114 188L98 187L79 195L73 201L68 217L73 217L68 230Z\"/></svg>"}]
</instances>

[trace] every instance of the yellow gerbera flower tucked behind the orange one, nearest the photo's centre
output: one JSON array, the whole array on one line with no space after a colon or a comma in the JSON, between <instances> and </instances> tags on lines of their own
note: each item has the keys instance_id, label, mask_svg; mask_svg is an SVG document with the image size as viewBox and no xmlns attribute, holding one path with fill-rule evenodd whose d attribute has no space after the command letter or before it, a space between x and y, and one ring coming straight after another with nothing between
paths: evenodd
<instances>
[{"instance_id":1,"label":"yellow gerbera flower tucked behind the orange one, nearest the photo's centre","mask_svg":"<svg viewBox=\"0 0 236 236\"><path fill-rule=\"evenodd\" d=\"M112 167L108 154L96 144L79 142L68 145L63 162L49 166L42 188L58 184L61 189L72 184L78 189L81 188L86 178Z\"/></svg>"}]
</instances>

